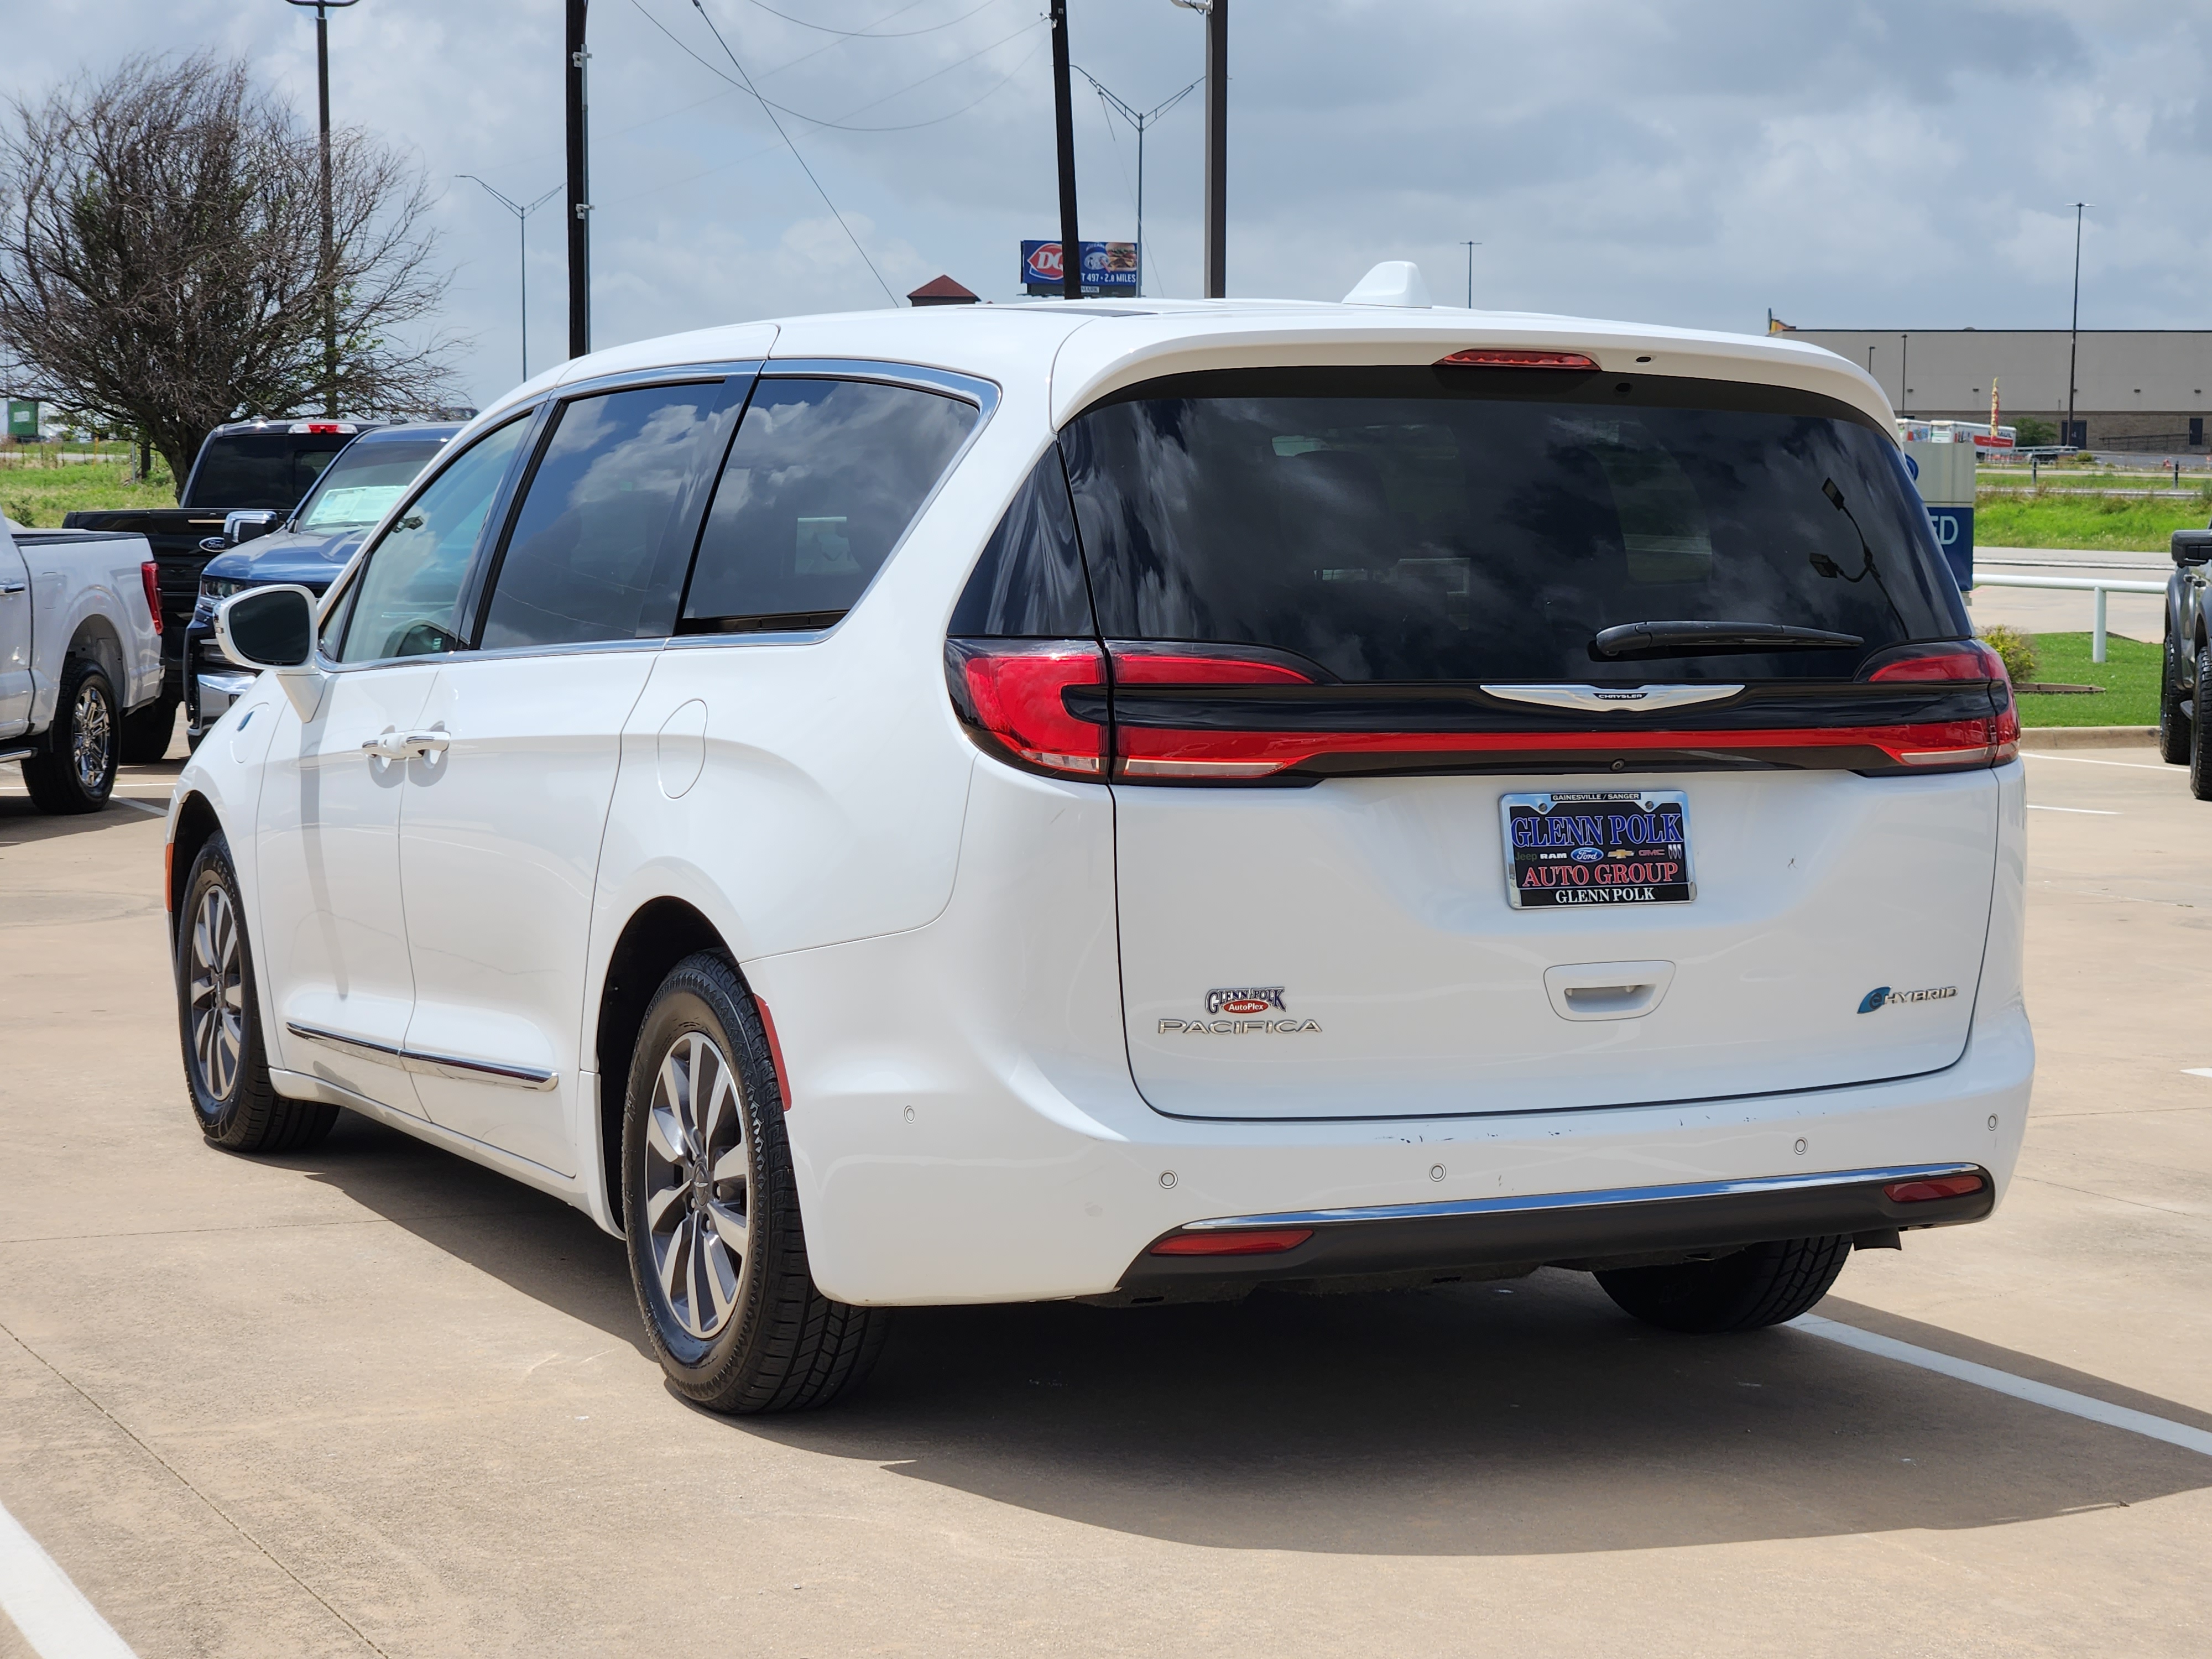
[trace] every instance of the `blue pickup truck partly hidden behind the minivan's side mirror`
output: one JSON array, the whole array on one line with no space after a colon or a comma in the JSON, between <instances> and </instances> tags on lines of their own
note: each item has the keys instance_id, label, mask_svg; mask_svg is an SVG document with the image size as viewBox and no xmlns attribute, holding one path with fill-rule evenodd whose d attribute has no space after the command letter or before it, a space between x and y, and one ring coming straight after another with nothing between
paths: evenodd
<instances>
[{"instance_id":1,"label":"blue pickup truck partly hidden behind the minivan's side mirror","mask_svg":"<svg viewBox=\"0 0 2212 1659\"><path fill-rule=\"evenodd\" d=\"M296 582L321 597L363 533L456 431L458 422L369 427L338 451L283 524L208 560L184 633L184 730L195 743L252 684L243 668L212 655L217 602L270 582Z\"/></svg>"}]
</instances>

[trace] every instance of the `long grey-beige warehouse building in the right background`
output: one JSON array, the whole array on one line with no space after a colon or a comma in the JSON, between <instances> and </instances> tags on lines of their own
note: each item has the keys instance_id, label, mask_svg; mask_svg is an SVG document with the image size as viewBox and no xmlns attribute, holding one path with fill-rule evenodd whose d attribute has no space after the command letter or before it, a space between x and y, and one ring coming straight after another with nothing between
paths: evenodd
<instances>
[{"instance_id":1,"label":"long grey-beige warehouse building in the right background","mask_svg":"<svg viewBox=\"0 0 2212 1659\"><path fill-rule=\"evenodd\" d=\"M1898 414L1989 420L1997 387L2006 425L2048 420L2081 449L2205 449L2212 414L2212 330L2086 327L2075 361L2075 431L2066 434L2064 327L1790 327L1776 334L1825 345L1876 378Z\"/></svg>"}]
</instances>

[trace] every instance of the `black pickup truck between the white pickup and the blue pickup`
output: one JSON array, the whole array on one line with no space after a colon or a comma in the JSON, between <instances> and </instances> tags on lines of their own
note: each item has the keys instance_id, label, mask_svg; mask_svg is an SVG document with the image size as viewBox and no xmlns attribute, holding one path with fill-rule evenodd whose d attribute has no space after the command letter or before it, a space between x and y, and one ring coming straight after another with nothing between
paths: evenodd
<instances>
[{"instance_id":1,"label":"black pickup truck between the white pickup and the blue pickup","mask_svg":"<svg viewBox=\"0 0 2212 1659\"><path fill-rule=\"evenodd\" d=\"M64 513L62 524L144 535L161 577L161 697L128 714L122 759L159 761L184 701L184 639L199 602L199 571L226 546L261 535L290 513L330 458L369 420L232 420L201 440L175 507Z\"/></svg>"}]
</instances>

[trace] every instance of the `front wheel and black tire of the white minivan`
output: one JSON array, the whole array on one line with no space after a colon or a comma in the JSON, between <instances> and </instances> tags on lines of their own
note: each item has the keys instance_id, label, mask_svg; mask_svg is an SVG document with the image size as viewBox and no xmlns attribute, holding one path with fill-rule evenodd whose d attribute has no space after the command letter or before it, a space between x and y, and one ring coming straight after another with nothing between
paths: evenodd
<instances>
[{"instance_id":1,"label":"front wheel and black tire of the white minivan","mask_svg":"<svg viewBox=\"0 0 2212 1659\"><path fill-rule=\"evenodd\" d=\"M192 860L177 911L177 1031L192 1117L210 1146L296 1152L338 1121L338 1108L285 1099L270 1084L246 902L230 843L210 836Z\"/></svg>"}]
</instances>

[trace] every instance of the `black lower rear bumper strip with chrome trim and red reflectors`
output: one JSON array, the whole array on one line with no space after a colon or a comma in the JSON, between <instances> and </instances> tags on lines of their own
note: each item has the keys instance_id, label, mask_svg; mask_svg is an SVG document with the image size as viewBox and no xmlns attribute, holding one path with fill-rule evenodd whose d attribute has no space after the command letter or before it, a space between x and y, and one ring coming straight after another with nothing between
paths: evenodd
<instances>
[{"instance_id":1,"label":"black lower rear bumper strip with chrome trim and red reflectors","mask_svg":"<svg viewBox=\"0 0 2212 1659\"><path fill-rule=\"evenodd\" d=\"M1982 1186L1960 1197L1916 1203L1898 1203L1885 1192L1891 1183L1949 1175L1971 1175ZM1217 1217L1186 1223L1168 1239L1219 1243L1252 1230L1296 1230L1312 1237L1276 1254L1146 1252L1121 1276L1119 1298L1179 1301L1321 1279L1449 1279L1462 1270L1484 1276L1502 1267L1630 1265L1719 1254L1767 1239L1856 1237L1891 1243L1902 1230L1982 1221L1995 1203L1995 1181L1975 1164L1909 1164L1747 1181Z\"/></svg>"}]
</instances>

